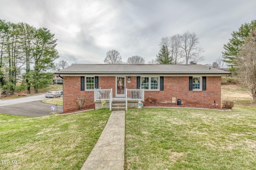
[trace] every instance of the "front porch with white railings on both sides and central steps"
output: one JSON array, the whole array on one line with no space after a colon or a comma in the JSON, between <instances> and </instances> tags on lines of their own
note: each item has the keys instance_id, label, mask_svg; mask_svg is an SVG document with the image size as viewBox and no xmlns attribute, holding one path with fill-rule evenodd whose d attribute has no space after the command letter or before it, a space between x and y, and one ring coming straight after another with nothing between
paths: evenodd
<instances>
[{"instance_id":1,"label":"front porch with white railings on both sides and central steps","mask_svg":"<svg viewBox=\"0 0 256 170\"><path fill-rule=\"evenodd\" d=\"M95 109L127 110L128 107L138 107L138 101L144 102L144 89L127 89L125 97L113 97L112 89L94 89Z\"/></svg>"}]
</instances>

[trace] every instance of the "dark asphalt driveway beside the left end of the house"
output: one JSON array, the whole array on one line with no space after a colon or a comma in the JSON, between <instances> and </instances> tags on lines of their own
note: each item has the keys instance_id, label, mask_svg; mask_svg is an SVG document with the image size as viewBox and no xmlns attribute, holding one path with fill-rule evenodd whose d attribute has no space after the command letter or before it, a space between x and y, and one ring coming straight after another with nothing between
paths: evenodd
<instances>
[{"instance_id":1,"label":"dark asphalt driveway beside the left end of the house","mask_svg":"<svg viewBox=\"0 0 256 170\"><path fill-rule=\"evenodd\" d=\"M40 117L49 115L52 112L63 111L63 106L58 105L55 106L55 110L51 110L51 106L53 104L45 104L40 101L34 102L24 102L19 104L11 104L0 107L0 113L8 114L8 115L17 115L17 116L27 116L27 117Z\"/></svg>"}]
</instances>

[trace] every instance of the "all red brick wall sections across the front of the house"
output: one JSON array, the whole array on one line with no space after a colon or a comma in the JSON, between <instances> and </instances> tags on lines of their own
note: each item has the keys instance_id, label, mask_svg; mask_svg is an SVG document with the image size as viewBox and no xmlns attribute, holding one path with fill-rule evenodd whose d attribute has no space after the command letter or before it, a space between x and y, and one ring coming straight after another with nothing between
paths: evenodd
<instances>
[{"instance_id":1,"label":"all red brick wall sections across the front of the house","mask_svg":"<svg viewBox=\"0 0 256 170\"><path fill-rule=\"evenodd\" d=\"M128 83L126 77L126 88L136 89L137 77L130 76ZM99 88L113 89L113 96L116 94L116 77L99 76ZM206 91L189 91L189 77L164 77L164 91L146 91L144 94L144 106L150 106L149 100L154 99L157 103L172 103L172 97L176 102L181 99L182 104L197 105L220 108L221 107L221 77L206 77ZM74 100L77 96L86 96L84 108L94 108L94 92L80 91L80 76L64 76L63 79L63 111L75 110ZM214 103L215 100L215 103ZM218 104L218 106L216 105ZM175 104L174 104L175 105Z\"/></svg>"}]
</instances>

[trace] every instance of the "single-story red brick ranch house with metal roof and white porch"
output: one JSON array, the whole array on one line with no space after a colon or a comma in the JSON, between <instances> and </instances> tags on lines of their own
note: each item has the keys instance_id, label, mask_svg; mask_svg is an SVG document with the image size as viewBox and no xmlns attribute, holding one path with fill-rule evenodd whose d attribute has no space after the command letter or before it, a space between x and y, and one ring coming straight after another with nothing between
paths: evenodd
<instances>
[{"instance_id":1,"label":"single-story red brick ranch house with metal roof and white porch","mask_svg":"<svg viewBox=\"0 0 256 170\"><path fill-rule=\"evenodd\" d=\"M221 108L221 76L230 73L200 64L74 64L55 74L63 76L65 112L77 109L80 96L87 109L137 107L138 100L144 106Z\"/></svg>"}]
</instances>

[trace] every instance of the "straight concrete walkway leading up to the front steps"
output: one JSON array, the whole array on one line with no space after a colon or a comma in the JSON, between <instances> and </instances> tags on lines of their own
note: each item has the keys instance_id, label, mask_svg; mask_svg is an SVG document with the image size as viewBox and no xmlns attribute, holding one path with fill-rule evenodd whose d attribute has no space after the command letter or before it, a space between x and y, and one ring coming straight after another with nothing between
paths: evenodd
<instances>
[{"instance_id":1,"label":"straight concrete walkway leading up to the front steps","mask_svg":"<svg viewBox=\"0 0 256 170\"><path fill-rule=\"evenodd\" d=\"M112 111L81 170L124 170L124 111Z\"/></svg>"}]
</instances>

